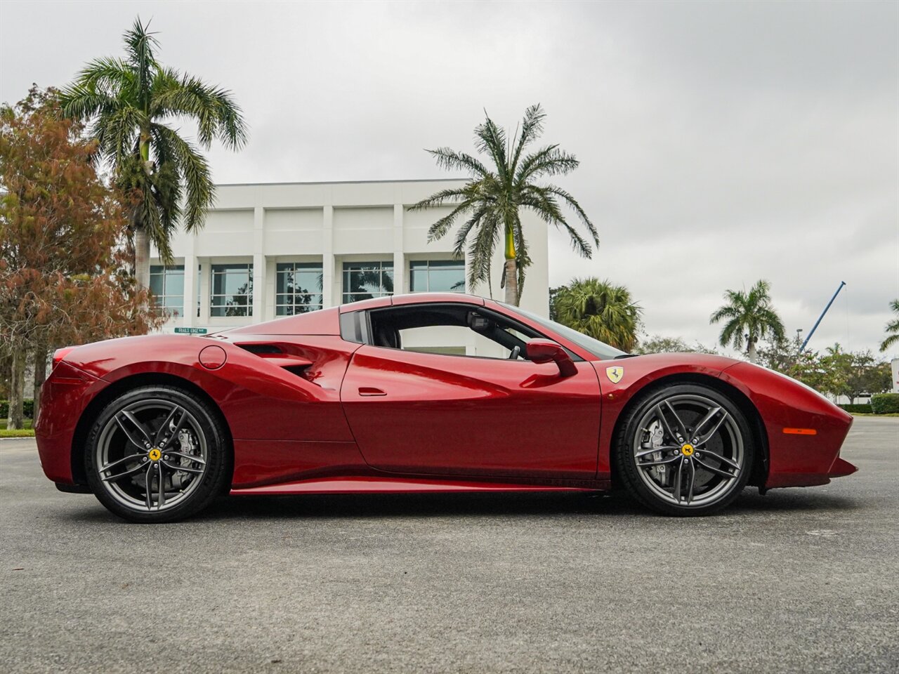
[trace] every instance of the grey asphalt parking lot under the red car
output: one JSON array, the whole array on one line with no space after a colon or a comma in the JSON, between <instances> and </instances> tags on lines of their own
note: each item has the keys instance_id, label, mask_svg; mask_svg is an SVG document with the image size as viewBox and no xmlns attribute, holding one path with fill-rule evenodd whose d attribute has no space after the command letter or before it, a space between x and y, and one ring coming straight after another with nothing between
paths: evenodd
<instances>
[{"instance_id":1,"label":"grey asphalt parking lot under the red car","mask_svg":"<svg viewBox=\"0 0 899 674\"><path fill-rule=\"evenodd\" d=\"M0 443L0 671L899 670L899 419L856 420L859 473L703 519L332 495L139 526Z\"/></svg>"}]
</instances>

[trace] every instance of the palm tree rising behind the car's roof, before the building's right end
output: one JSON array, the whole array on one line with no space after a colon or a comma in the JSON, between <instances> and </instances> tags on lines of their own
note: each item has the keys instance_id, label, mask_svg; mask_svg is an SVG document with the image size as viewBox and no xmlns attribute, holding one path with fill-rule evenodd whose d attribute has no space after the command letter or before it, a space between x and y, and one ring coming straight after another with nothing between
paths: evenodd
<instances>
[{"instance_id":1,"label":"palm tree rising behind the car's roof, before the building's right end","mask_svg":"<svg viewBox=\"0 0 899 674\"><path fill-rule=\"evenodd\" d=\"M465 171L471 180L462 187L436 192L412 207L432 208L446 203L453 206L449 215L441 217L428 230L429 241L445 236L458 217L467 217L456 235L454 253L457 258L462 258L468 244L469 286L489 282L494 247L503 236L506 262L501 285L505 287L505 300L511 305L519 303L525 270L530 265L528 243L521 229L521 208L530 208L547 224L565 229L574 250L583 257L590 257L590 244L565 220L560 202L567 204L580 218L593 243L600 244L596 227L571 194L556 185L535 182L541 176L571 173L579 164L574 155L560 150L557 145L543 146L524 154L530 143L540 137L545 117L539 104L530 106L524 113L520 131L516 130L510 142L505 131L488 116L475 129L475 146L478 154L486 156L486 164L473 155L449 147L428 150L439 166L449 171Z\"/></svg>"}]
</instances>

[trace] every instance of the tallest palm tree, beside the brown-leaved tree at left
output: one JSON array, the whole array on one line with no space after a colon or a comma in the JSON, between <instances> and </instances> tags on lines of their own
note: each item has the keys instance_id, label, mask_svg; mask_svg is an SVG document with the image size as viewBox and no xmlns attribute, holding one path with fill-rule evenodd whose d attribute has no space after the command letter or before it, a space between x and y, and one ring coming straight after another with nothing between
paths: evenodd
<instances>
[{"instance_id":1,"label":"tallest palm tree, beside the brown-leaved tree at left","mask_svg":"<svg viewBox=\"0 0 899 674\"><path fill-rule=\"evenodd\" d=\"M134 195L129 228L142 288L149 285L150 243L170 262L169 238L179 218L188 232L200 228L215 197L209 164L171 123L196 122L197 140L205 149L213 138L231 149L246 141L231 93L161 66L148 26L138 18L124 35L125 58L91 61L60 95L67 116L92 120L100 159L111 163L120 188Z\"/></svg>"}]
</instances>

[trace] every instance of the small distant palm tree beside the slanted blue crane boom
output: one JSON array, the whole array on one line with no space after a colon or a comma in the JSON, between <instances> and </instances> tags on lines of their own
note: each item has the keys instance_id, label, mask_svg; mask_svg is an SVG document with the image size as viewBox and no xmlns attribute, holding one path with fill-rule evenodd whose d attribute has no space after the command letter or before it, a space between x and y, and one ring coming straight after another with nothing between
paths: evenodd
<instances>
[{"instance_id":1,"label":"small distant palm tree beside the slanted blue crane boom","mask_svg":"<svg viewBox=\"0 0 899 674\"><path fill-rule=\"evenodd\" d=\"M770 283L760 280L748 293L742 290L727 290L727 304L721 306L709 319L709 323L726 321L721 331L721 346L733 344L734 349L743 349L749 362L756 360L755 345L760 339L771 336L775 340L784 339L784 325L780 316L771 306Z\"/></svg>"}]
</instances>

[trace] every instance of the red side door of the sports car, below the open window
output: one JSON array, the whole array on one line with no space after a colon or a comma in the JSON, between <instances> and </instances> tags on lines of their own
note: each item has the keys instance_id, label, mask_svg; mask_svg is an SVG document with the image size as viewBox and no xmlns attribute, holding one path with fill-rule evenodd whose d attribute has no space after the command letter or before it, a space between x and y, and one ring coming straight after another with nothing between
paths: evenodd
<instances>
[{"instance_id":1,"label":"red side door of the sports car, below the open window","mask_svg":"<svg viewBox=\"0 0 899 674\"><path fill-rule=\"evenodd\" d=\"M423 323L419 312L415 327ZM552 362L403 350L402 328L402 321L373 324L372 334L389 337L356 350L343 378L343 409L369 466L404 474L595 476L601 398L590 363L578 361L574 376L561 377Z\"/></svg>"}]
</instances>

